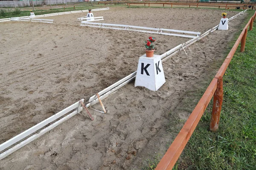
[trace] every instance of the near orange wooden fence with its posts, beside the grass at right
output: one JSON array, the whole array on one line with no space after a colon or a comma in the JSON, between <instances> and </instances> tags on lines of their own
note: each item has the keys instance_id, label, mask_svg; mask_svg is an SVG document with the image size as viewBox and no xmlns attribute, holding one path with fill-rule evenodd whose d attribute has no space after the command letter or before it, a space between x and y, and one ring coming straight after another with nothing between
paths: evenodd
<instances>
[{"instance_id":1,"label":"near orange wooden fence with its posts, beside the grass at right","mask_svg":"<svg viewBox=\"0 0 256 170\"><path fill-rule=\"evenodd\" d=\"M244 27L243 31L241 32L240 36L236 40L233 48L230 50L230 53L227 55L227 58L221 65L221 68L218 70L215 77L212 79L212 82L204 92L204 95L199 100L198 104L196 105L194 111L189 116L189 119L186 121L178 135L176 136L175 140L172 142L171 146L157 165L155 170L172 170L176 161L178 160L180 154L182 153L183 149L185 148L189 138L191 137L192 133L195 130L195 127L198 125L205 109L207 108L210 100L213 98L213 109L212 109L212 117L210 122L210 130L215 131L218 129L218 122L221 113L221 105L222 105L222 98L223 98L223 80L222 77L227 70L227 66L229 65L233 55L236 52L236 49L239 46L241 41L241 52L244 51L243 45L245 45L246 35L248 26L250 26L250 30L253 28L253 22L256 17L256 11L253 16L250 18L249 22ZM244 44L242 41L244 40ZM243 49L243 50L242 50Z\"/></svg>"}]
</instances>

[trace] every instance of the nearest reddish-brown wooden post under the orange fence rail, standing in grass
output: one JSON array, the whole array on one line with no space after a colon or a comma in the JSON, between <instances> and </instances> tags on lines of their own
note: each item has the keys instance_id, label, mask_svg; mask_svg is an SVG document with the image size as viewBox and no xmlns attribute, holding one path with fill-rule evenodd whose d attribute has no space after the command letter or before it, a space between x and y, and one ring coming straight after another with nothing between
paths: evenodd
<instances>
[{"instance_id":1,"label":"nearest reddish-brown wooden post under the orange fence rail, standing in grass","mask_svg":"<svg viewBox=\"0 0 256 170\"><path fill-rule=\"evenodd\" d=\"M213 96L212 117L210 123L210 130L212 132L218 130L223 100L223 77L218 77L217 79L217 89Z\"/></svg>"}]
</instances>

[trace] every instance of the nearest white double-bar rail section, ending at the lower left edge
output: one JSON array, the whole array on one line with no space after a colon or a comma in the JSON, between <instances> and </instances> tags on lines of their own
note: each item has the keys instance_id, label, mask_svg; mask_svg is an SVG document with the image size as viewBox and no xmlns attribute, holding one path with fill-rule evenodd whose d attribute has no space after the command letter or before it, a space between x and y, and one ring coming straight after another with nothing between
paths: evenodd
<instances>
[{"instance_id":1,"label":"nearest white double-bar rail section, ending at the lower left edge","mask_svg":"<svg viewBox=\"0 0 256 170\"><path fill-rule=\"evenodd\" d=\"M81 102L84 102L84 99L80 100ZM5 152L0 154L0 160L4 159L6 156L10 155L11 153L15 152L16 150L20 149L21 147L25 146L29 142L32 142L33 140L39 138L44 133L47 133L49 130L52 130L54 127L60 125L62 122L65 122L67 119L70 119L72 116L75 116L77 113L81 112L83 110L80 101L74 103L73 105L70 105L69 107L65 108L64 110L54 114L53 116L45 119L44 121L38 123L37 125L30 127L28 130L20 133L19 135L13 137L12 139L9 139L8 141L4 142L3 144L0 144L0 152L3 150L6 150L8 147L12 146L13 144L21 141L22 139L26 138L27 136L31 135L32 133L35 133L37 130L41 129L42 127L48 125L49 123L55 121L56 119L60 118L61 116L64 116L70 111L73 111L72 113L68 114L67 116L64 116L57 122L52 123L51 125L45 127L38 133L35 133L34 135L30 136L29 138L25 139L24 141L20 142L19 144L13 146L9 150L6 150Z\"/></svg>"}]
</instances>

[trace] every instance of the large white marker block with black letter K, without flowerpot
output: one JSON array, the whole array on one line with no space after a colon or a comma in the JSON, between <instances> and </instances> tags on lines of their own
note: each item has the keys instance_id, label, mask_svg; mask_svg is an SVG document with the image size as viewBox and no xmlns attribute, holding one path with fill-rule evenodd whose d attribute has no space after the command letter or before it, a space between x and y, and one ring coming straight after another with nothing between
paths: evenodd
<instances>
[{"instance_id":1,"label":"large white marker block with black letter K, without flowerpot","mask_svg":"<svg viewBox=\"0 0 256 170\"><path fill-rule=\"evenodd\" d=\"M141 56L137 68L135 87L143 86L151 91L157 91L165 82L160 56Z\"/></svg>"}]
</instances>

